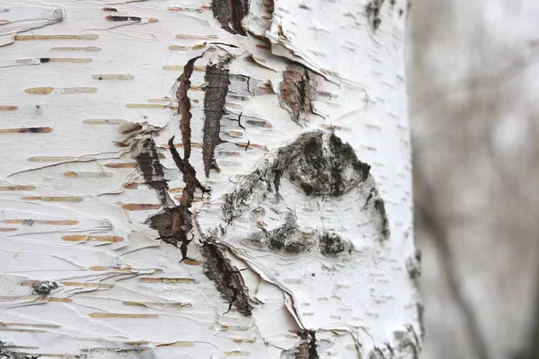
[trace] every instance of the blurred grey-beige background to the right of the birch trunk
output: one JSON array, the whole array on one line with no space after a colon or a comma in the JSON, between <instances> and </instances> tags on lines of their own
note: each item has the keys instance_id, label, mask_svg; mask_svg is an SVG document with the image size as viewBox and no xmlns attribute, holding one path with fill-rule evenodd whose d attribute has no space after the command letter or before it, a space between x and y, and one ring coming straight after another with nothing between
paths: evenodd
<instances>
[{"instance_id":1,"label":"blurred grey-beige background to the right of the birch trunk","mask_svg":"<svg viewBox=\"0 0 539 359\"><path fill-rule=\"evenodd\" d=\"M539 2L410 16L421 358L539 358Z\"/></svg>"}]
</instances>

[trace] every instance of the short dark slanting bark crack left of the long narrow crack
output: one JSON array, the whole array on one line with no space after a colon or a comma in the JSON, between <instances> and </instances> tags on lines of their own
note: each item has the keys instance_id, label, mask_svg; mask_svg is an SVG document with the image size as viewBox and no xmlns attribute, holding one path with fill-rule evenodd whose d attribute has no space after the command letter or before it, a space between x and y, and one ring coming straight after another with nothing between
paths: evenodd
<instances>
[{"instance_id":1,"label":"short dark slanting bark crack left of the long narrow crack","mask_svg":"<svg viewBox=\"0 0 539 359\"><path fill-rule=\"evenodd\" d=\"M168 206L168 184L164 178L163 166L159 161L159 153L157 153L153 138L150 137L144 141L142 151L137 156L137 162L146 184L157 191L161 204L164 207Z\"/></svg>"}]
</instances>

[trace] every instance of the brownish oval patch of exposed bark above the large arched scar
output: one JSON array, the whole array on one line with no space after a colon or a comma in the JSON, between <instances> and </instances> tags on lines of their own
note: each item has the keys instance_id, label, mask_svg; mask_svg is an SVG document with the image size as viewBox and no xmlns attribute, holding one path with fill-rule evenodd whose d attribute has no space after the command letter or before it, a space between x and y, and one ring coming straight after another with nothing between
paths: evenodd
<instances>
[{"instance_id":1,"label":"brownish oval patch of exposed bark above the large arched scar","mask_svg":"<svg viewBox=\"0 0 539 359\"><path fill-rule=\"evenodd\" d=\"M314 74L305 66L287 66L283 81L279 85L281 106L299 124L306 122L306 116L313 111L312 101L316 98Z\"/></svg>"}]
</instances>

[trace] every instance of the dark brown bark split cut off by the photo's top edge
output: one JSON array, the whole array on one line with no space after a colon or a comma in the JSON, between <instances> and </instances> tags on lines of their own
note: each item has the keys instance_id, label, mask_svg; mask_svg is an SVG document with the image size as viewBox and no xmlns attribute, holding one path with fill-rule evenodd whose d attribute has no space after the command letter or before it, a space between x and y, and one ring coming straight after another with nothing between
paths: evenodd
<instances>
[{"instance_id":1,"label":"dark brown bark split cut off by the photo's top edge","mask_svg":"<svg viewBox=\"0 0 539 359\"><path fill-rule=\"evenodd\" d=\"M247 35L242 20L249 13L249 0L213 0L211 10L225 31Z\"/></svg>"}]
</instances>

